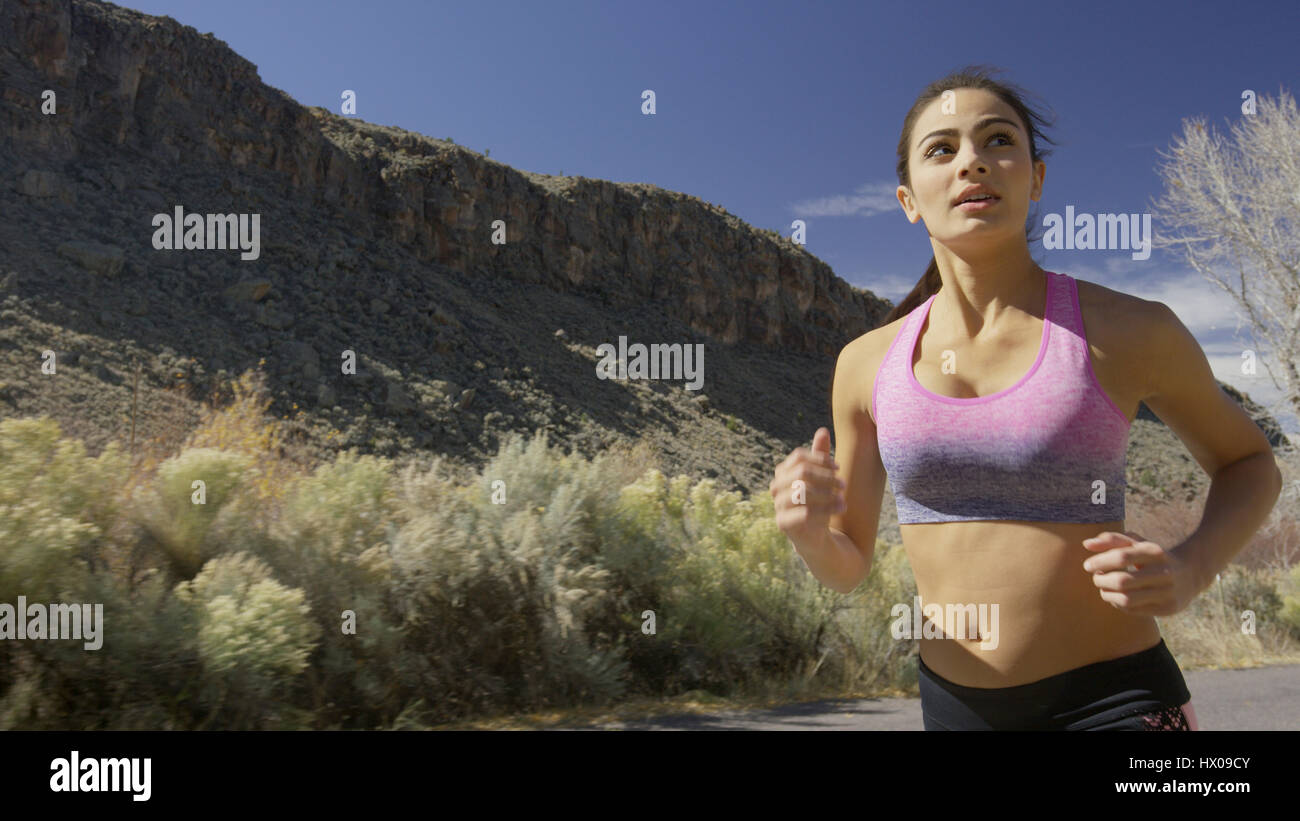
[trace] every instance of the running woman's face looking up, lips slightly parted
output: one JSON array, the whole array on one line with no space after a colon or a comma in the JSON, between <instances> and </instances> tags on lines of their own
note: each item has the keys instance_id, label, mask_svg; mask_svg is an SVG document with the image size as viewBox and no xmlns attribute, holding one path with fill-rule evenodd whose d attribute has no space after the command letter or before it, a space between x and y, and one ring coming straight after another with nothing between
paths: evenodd
<instances>
[{"instance_id":1,"label":"running woman's face looking up, lips slightly parted","mask_svg":"<svg viewBox=\"0 0 1300 821\"><path fill-rule=\"evenodd\" d=\"M957 88L931 101L916 120L907 151L911 188L898 186L898 201L909 221L924 220L930 235L949 247L1023 236L1030 200L1041 196L1046 165L1031 161L1019 116L997 95ZM987 186L998 199L958 207L971 186Z\"/></svg>"}]
</instances>

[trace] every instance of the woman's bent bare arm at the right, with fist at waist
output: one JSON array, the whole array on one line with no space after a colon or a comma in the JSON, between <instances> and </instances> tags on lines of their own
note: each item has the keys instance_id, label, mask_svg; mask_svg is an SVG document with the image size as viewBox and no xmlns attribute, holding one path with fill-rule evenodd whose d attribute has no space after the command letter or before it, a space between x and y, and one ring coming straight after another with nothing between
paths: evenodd
<instances>
[{"instance_id":1,"label":"woman's bent bare arm at the right, with fist at waist","mask_svg":"<svg viewBox=\"0 0 1300 821\"><path fill-rule=\"evenodd\" d=\"M1144 301L1130 330L1147 386L1143 401L1212 477L1210 491L1200 525L1176 546L1102 534L1084 546L1109 555L1089 557L1084 568L1101 572L1095 581L1112 604L1170 614L1209 587L1268 520L1282 472L1264 431L1218 386L1205 352L1167 305ZM1132 572L1134 564L1145 573Z\"/></svg>"}]
</instances>

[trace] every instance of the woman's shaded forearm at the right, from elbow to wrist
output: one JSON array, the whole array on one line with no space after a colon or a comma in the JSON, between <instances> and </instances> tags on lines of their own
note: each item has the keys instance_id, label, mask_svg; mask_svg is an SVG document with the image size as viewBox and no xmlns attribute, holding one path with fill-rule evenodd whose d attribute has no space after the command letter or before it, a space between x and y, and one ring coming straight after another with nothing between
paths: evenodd
<instances>
[{"instance_id":1,"label":"woman's shaded forearm at the right, from elbow to wrist","mask_svg":"<svg viewBox=\"0 0 1300 821\"><path fill-rule=\"evenodd\" d=\"M1171 551L1192 566L1197 592L1245 547L1269 518L1280 491L1282 477L1270 452L1248 456L1214 474L1200 525Z\"/></svg>"}]
</instances>

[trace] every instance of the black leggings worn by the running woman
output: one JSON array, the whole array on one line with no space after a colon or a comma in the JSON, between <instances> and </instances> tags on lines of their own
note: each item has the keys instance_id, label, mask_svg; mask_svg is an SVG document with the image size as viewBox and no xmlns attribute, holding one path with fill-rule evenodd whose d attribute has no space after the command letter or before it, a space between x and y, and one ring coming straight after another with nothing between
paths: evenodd
<instances>
[{"instance_id":1,"label":"black leggings worn by the running woman","mask_svg":"<svg viewBox=\"0 0 1300 821\"><path fill-rule=\"evenodd\" d=\"M1195 730L1187 682L1161 639L1015 687L963 687L916 659L927 730Z\"/></svg>"}]
</instances>

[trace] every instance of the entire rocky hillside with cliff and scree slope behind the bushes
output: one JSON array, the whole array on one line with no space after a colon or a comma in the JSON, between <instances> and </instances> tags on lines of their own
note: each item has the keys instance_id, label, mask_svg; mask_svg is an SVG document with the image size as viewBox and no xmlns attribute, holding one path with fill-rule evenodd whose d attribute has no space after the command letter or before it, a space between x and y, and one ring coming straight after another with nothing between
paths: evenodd
<instances>
[{"instance_id":1,"label":"entire rocky hillside with cliff and scree slope behind the bushes","mask_svg":"<svg viewBox=\"0 0 1300 821\"><path fill-rule=\"evenodd\" d=\"M688 194L299 105L168 17L0 0L0 417L48 413L92 452L126 439L133 362L139 438L261 366L317 456L473 465L545 430L588 455L645 438L667 472L766 490L829 426L835 355L892 308ZM178 212L209 248L183 218L157 247ZM256 248L211 248L203 214L257 214ZM620 336L703 346L703 390L598 378ZM1158 421L1130 447L1131 482L1154 459L1162 486L1195 485Z\"/></svg>"}]
</instances>

